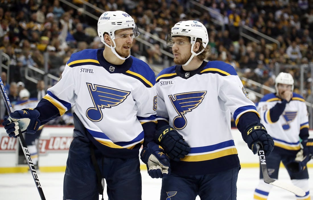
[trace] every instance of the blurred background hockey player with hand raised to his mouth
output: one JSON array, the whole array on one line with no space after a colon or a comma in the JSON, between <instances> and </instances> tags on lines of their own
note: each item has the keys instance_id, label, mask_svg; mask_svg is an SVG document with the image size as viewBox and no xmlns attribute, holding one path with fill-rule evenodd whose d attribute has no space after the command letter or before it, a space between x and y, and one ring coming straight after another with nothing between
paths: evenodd
<instances>
[{"instance_id":1,"label":"blurred background hockey player with hand raised to his mouth","mask_svg":"<svg viewBox=\"0 0 313 200\"><path fill-rule=\"evenodd\" d=\"M280 162L282 162L292 183L305 191L304 197L296 196L296 199L308 200L310 193L306 163L313 153L313 140L308 139L309 120L305 101L299 94L293 93L294 79L290 73L279 73L275 79L275 88L276 93L265 95L257 109L261 123L275 142L273 152L269 158L266 158L269 176L278 178ZM271 185L264 183L260 172L260 181L255 189L254 199L266 200L271 188Z\"/></svg>"}]
</instances>

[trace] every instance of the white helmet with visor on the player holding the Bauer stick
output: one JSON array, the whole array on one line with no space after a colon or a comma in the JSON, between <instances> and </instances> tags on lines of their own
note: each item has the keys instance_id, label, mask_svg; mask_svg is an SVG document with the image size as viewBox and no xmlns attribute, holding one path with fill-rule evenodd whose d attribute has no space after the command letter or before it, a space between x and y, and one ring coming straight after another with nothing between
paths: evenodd
<instances>
[{"instance_id":1,"label":"white helmet with visor on the player holding the Bauer stick","mask_svg":"<svg viewBox=\"0 0 313 200\"><path fill-rule=\"evenodd\" d=\"M129 53L127 58L123 58L120 55L118 55L115 51L115 31L116 30L120 30L120 29L124 29L124 28L132 28L133 29L133 37L138 37L139 36L139 31L138 28L136 26L136 23L134 21L134 19L127 14L124 11L107 11L102 13L102 15L99 17L98 20L98 35L100 37L100 40L102 43L105 44L105 46L110 47L112 52L120 59L122 60L126 60L127 58L129 58L131 56L131 54ZM104 38L103 38L103 34L107 32L112 41L114 46L109 46L107 43L105 43Z\"/></svg>"}]
</instances>

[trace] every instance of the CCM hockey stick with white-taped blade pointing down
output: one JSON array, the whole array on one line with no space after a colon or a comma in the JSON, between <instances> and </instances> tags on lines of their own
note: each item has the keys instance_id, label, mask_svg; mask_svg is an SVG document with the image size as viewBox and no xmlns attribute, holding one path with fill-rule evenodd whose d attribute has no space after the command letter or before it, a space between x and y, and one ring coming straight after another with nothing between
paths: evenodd
<instances>
[{"instance_id":1,"label":"CCM hockey stick with white-taped blade pointing down","mask_svg":"<svg viewBox=\"0 0 313 200\"><path fill-rule=\"evenodd\" d=\"M304 197L305 196L305 191L303 191L300 187L297 187L297 186L295 186L295 185L293 185L291 183L286 183L284 181L275 180L275 179L269 177L269 174L267 172L265 154L264 154L264 150L262 148L262 145L258 144L258 143L256 145L257 145L257 149L258 149L258 152L259 152L260 164L261 164L261 169L262 169L264 182L268 183L270 185L274 185L276 187L280 187L282 189L288 190L288 191L294 193L297 196Z\"/></svg>"}]
</instances>

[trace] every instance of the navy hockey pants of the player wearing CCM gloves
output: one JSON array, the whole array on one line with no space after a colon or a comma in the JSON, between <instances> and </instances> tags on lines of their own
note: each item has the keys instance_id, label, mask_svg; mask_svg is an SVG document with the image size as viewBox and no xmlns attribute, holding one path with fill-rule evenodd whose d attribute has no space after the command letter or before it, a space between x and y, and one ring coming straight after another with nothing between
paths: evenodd
<instances>
[{"instance_id":1,"label":"navy hockey pants of the player wearing CCM gloves","mask_svg":"<svg viewBox=\"0 0 313 200\"><path fill-rule=\"evenodd\" d=\"M160 200L235 200L240 168L225 172L196 176L178 176L171 173L162 179Z\"/></svg>"}]
</instances>

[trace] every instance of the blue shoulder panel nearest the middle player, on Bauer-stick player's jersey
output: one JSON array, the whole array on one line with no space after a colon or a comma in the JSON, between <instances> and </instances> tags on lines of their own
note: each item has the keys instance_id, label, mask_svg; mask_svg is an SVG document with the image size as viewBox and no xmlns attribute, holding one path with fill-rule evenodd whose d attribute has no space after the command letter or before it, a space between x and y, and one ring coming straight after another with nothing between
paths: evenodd
<instances>
[{"instance_id":1,"label":"blue shoulder panel nearest the middle player, on Bauer-stick player's jersey","mask_svg":"<svg viewBox=\"0 0 313 200\"><path fill-rule=\"evenodd\" d=\"M127 75L134 77L144 83L147 87L155 85L155 74L153 70L144 61L131 56L133 63L131 68L126 71Z\"/></svg>"}]
</instances>

